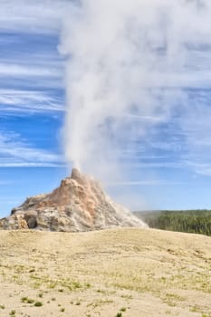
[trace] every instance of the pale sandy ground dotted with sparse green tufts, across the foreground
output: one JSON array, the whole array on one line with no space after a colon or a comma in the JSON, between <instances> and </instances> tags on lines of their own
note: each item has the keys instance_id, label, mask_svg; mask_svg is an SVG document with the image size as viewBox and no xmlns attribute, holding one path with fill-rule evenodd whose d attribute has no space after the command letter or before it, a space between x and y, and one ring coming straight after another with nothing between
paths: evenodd
<instances>
[{"instance_id":1,"label":"pale sandy ground dotted with sparse green tufts, across the foreground","mask_svg":"<svg viewBox=\"0 0 211 317\"><path fill-rule=\"evenodd\" d=\"M0 231L0 316L211 316L211 238Z\"/></svg>"}]
</instances>

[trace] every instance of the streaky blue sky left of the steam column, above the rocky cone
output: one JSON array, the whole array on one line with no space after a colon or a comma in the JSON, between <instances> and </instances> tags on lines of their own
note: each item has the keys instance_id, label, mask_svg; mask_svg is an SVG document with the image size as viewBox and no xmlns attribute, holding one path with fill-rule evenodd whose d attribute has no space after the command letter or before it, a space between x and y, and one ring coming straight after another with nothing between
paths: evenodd
<instances>
[{"instance_id":1,"label":"streaky blue sky left of the steam column, above the rocky cone","mask_svg":"<svg viewBox=\"0 0 211 317\"><path fill-rule=\"evenodd\" d=\"M39 1L0 6L0 216L5 216L25 197L57 187L69 171L62 152L63 64L57 50L62 2L52 9Z\"/></svg>"}]
</instances>

